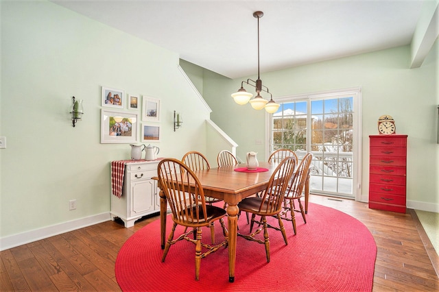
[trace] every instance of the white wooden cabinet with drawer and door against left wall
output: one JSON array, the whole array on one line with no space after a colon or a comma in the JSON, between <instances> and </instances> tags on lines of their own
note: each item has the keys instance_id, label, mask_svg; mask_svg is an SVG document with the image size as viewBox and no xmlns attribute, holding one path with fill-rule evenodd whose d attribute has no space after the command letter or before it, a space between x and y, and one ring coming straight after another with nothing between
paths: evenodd
<instances>
[{"instance_id":1,"label":"white wooden cabinet with drawer and door against left wall","mask_svg":"<svg viewBox=\"0 0 439 292\"><path fill-rule=\"evenodd\" d=\"M127 162L123 175L121 197L111 195L111 219L122 219L125 227L134 226L134 221L145 215L160 212L160 197L157 181L158 160Z\"/></svg>"}]
</instances>

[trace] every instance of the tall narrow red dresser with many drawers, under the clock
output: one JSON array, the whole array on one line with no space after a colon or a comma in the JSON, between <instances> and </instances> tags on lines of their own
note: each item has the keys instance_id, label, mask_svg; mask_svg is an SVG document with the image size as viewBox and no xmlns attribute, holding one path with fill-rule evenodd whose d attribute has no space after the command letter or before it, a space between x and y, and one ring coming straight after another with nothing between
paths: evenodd
<instances>
[{"instance_id":1,"label":"tall narrow red dresser with many drawers, under the clock","mask_svg":"<svg viewBox=\"0 0 439 292\"><path fill-rule=\"evenodd\" d=\"M369 138L369 208L405 213L407 135Z\"/></svg>"}]
</instances>

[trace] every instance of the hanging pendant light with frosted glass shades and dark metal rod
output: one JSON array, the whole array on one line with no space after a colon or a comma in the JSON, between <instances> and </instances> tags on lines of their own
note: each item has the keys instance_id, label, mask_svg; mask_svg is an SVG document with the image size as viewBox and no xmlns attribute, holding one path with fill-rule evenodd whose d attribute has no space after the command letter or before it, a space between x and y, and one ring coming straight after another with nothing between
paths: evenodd
<instances>
[{"instance_id":1,"label":"hanging pendant light with frosted glass shades and dark metal rod","mask_svg":"<svg viewBox=\"0 0 439 292\"><path fill-rule=\"evenodd\" d=\"M262 80L259 77L259 19L262 16L263 16L263 12L261 11L257 11L253 13L253 17L258 19L258 79L256 81L248 79L247 81L241 82L241 88L239 88L239 90L236 93L233 93L232 97L237 104L244 105L250 102L250 105L255 110L262 110L263 108L265 108L265 111L272 114L276 112L276 110L279 108L280 105L274 102L273 96L268 90L268 87L262 85ZM244 83L256 88L257 95L254 97L254 99L251 99L253 97L252 93L248 93L244 88ZM267 101L267 99L261 97L260 94L261 91L268 93L270 95L270 101Z\"/></svg>"}]
</instances>

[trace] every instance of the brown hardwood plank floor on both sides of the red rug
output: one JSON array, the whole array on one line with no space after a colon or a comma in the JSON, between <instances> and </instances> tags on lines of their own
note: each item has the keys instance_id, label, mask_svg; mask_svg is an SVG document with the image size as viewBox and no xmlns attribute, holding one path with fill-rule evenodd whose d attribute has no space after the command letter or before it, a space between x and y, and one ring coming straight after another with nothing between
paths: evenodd
<instances>
[{"instance_id":1,"label":"brown hardwood plank floor on both sides of the red rug","mask_svg":"<svg viewBox=\"0 0 439 292\"><path fill-rule=\"evenodd\" d=\"M317 195L311 195L310 202L346 212L373 234L378 250L373 291L439 291L427 250L434 263L438 254L425 248L420 224L410 210L407 214L372 210L368 204ZM132 228L107 221L4 250L0 291L120 291L115 278L117 252L134 232L157 218Z\"/></svg>"}]
</instances>

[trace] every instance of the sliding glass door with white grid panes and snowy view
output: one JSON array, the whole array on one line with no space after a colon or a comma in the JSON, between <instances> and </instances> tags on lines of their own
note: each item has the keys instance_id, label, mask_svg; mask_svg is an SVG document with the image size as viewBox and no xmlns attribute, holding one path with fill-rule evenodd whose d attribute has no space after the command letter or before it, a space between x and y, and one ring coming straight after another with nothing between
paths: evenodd
<instances>
[{"instance_id":1,"label":"sliding glass door with white grid panes and snowy view","mask_svg":"<svg viewBox=\"0 0 439 292\"><path fill-rule=\"evenodd\" d=\"M307 152L311 192L355 198L359 185L359 92L327 93L277 100L270 119L270 147L292 149L299 160Z\"/></svg>"}]
</instances>

